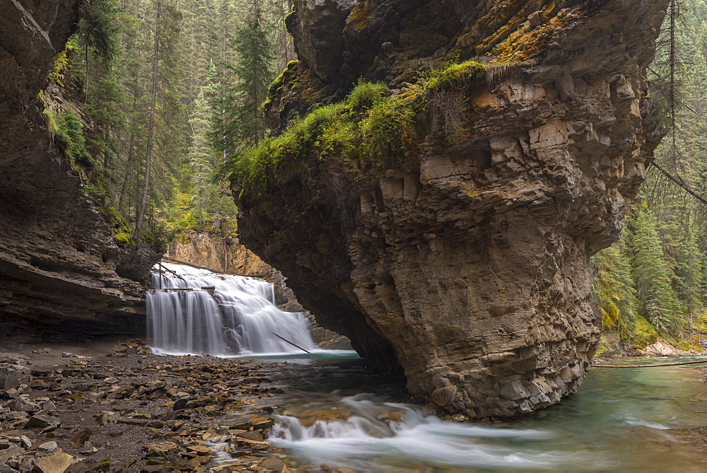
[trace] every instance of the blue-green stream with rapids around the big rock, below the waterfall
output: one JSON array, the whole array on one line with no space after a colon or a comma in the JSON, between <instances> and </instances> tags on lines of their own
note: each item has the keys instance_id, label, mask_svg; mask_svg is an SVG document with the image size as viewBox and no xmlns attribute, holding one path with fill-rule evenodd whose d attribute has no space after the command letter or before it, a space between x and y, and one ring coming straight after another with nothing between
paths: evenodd
<instances>
[{"instance_id":1,"label":"blue-green stream with rapids around the big rock, below the waterfall","mask_svg":"<svg viewBox=\"0 0 707 473\"><path fill-rule=\"evenodd\" d=\"M279 397L285 405L259 402L277 419L269 441L303 466L367 472L707 469L707 436L691 430L707 425L707 387L694 366L593 368L579 392L525 419L464 423L408 404L402 386L368 373L353 352L265 359L276 367L264 376L287 393ZM622 363L673 361L686 358Z\"/></svg>"}]
</instances>

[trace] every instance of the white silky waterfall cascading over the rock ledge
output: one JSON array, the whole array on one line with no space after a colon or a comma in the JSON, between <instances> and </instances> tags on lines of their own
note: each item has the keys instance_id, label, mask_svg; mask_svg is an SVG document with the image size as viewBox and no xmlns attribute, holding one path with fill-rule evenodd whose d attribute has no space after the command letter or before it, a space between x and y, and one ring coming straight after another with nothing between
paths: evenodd
<instances>
[{"instance_id":1,"label":"white silky waterfall cascading over the rock ledge","mask_svg":"<svg viewBox=\"0 0 707 473\"><path fill-rule=\"evenodd\" d=\"M158 289L147 291L148 337L156 353L303 353L277 335L308 351L317 349L308 320L276 307L272 284L181 264L161 266L168 271L152 274ZM202 289L209 286L214 287L213 296Z\"/></svg>"}]
</instances>

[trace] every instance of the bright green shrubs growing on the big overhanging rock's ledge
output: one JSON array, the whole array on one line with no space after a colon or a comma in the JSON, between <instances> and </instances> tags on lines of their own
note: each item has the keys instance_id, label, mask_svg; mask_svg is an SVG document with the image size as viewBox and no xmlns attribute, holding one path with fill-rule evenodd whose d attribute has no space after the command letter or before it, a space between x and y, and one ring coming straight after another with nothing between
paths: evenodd
<instances>
[{"instance_id":1,"label":"bright green shrubs growing on the big overhanging rock's ledge","mask_svg":"<svg viewBox=\"0 0 707 473\"><path fill-rule=\"evenodd\" d=\"M310 158L358 157L396 165L412 134L413 115L384 84L358 83L341 102L315 108L280 136L241 153L231 163L231 185L240 189L240 199L257 198L279 174Z\"/></svg>"}]
</instances>

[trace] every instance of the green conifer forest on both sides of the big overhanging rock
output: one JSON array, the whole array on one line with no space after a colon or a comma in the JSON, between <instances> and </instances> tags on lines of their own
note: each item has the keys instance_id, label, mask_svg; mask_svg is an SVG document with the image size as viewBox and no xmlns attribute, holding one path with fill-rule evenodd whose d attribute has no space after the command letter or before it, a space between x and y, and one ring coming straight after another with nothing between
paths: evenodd
<instances>
[{"instance_id":1,"label":"green conifer forest on both sides of the big overhanging rock","mask_svg":"<svg viewBox=\"0 0 707 473\"><path fill-rule=\"evenodd\" d=\"M122 245L236 238L228 173L269 136L262 104L295 59L282 0L90 0L45 116ZM707 4L673 2L648 71L665 135L621 239L593 257L599 353L707 332Z\"/></svg>"}]
</instances>

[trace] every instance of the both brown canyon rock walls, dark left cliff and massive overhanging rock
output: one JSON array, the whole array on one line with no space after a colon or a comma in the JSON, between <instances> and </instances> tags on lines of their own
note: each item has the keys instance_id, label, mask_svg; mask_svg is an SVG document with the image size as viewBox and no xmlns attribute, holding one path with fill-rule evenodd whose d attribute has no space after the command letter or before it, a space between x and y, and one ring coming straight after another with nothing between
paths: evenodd
<instances>
[{"instance_id":1,"label":"both brown canyon rock walls, dark left cliff and massive overhanging rock","mask_svg":"<svg viewBox=\"0 0 707 473\"><path fill-rule=\"evenodd\" d=\"M0 322L141 334L160 255L117 245L42 115L78 4L0 6ZM660 140L645 68L666 6L294 1L298 63L266 102L274 132L362 79L409 105L411 139L395 163L312 145L271 169L266 193L238 199L240 242L439 413L558 402L599 339L589 257L617 240ZM426 71L468 61L483 77L434 102Z\"/></svg>"}]
</instances>

